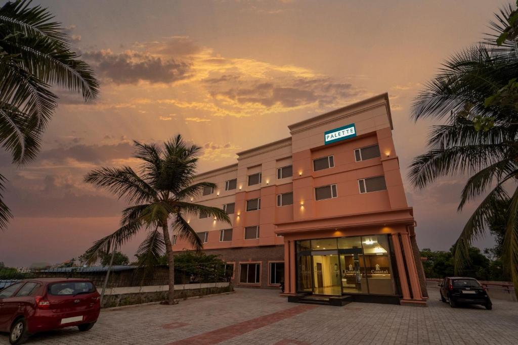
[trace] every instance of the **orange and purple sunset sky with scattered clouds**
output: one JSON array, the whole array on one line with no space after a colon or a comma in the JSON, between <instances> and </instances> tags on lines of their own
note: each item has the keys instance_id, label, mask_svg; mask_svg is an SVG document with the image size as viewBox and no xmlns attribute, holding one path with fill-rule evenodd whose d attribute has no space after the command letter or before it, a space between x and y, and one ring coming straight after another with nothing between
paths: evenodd
<instances>
[{"instance_id":1,"label":"orange and purple sunset sky with scattered clouds","mask_svg":"<svg viewBox=\"0 0 518 345\"><path fill-rule=\"evenodd\" d=\"M124 203L82 177L99 166L134 166L132 140L181 133L204 147L203 172L288 137L287 125L384 92L419 246L448 250L473 209L456 211L462 177L422 191L409 185L407 167L424 152L431 124L414 124L410 104L445 58L483 37L506 1L34 3L67 27L102 86L88 104L58 92L35 162L17 168L0 152L15 215L0 233L6 265L77 258L116 230ZM123 247L130 260L143 235Z\"/></svg>"}]
</instances>

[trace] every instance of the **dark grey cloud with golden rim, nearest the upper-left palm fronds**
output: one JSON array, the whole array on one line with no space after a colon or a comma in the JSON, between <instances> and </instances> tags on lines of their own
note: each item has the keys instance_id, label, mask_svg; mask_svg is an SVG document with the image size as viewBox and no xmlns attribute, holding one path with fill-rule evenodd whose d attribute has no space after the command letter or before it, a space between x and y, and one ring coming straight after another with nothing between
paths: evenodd
<instances>
[{"instance_id":1,"label":"dark grey cloud with golden rim, nearest the upper-left palm fronds","mask_svg":"<svg viewBox=\"0 0 518 345\"><path fill-rule=\"evenodd\" d=\"M136 51L91 51L84 53L83 58L102 78L115 84L172 83L188 78L191 67L188 62Z\"/></svg>"}]
</instances>

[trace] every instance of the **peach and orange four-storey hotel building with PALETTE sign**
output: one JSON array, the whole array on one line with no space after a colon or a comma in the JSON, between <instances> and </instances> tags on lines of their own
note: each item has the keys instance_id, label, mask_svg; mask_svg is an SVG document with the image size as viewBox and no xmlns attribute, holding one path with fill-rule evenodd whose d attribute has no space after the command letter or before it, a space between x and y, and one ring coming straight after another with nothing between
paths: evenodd
<instances>
[{"instance_id":1,"label":"peach and orange four-storey hotel building with PALETTE sign","mask_svg":"<svg viewBox=\"0 0 518 345\"><path fill-rule=\"evenodd\" d=\"M388 95L289 129L289 138L197 176L217 188L206 188L196 202L223 208L232 219L189 219L205 251L221 255L236 286L282 283L285 295L425 304ZM189 249L174 238L175 251Z\"/></svg>"}]
</instances>

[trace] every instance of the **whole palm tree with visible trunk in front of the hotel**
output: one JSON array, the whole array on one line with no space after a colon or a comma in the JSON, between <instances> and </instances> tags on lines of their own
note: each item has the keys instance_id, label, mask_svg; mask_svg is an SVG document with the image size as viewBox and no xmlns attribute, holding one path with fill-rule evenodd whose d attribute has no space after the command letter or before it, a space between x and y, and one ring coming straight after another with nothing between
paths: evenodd
<instances>
[{"instance_id":1,"label":"whole palm tree with visible trunk in front of the hotel","mask_svg":"<svg viewBox=\"0 0 518 345\"><path fill-rule=\"evenodd\" d=\"M165 249L169 265L168 302L174 304L175 260L169 221L170 229L179 238L200 250L203 243L184 216L204 213L215 220L230 223L230 219L220 208L190 202L199 197L204 188L216 187L209 182L193 183L201 147L188 146L180 135L165 142L163 147L136 141L135 147L134 157L142 161L138 173L130 167L100 168L84 177L85 182L107 189L131 204L122 211L121 227L95 242L84 257L88 263L97 262L112 246L120 246L140 230L147 229L149 233L137 251L139 262L157 263Z\"/></svg>"}]
</instances>

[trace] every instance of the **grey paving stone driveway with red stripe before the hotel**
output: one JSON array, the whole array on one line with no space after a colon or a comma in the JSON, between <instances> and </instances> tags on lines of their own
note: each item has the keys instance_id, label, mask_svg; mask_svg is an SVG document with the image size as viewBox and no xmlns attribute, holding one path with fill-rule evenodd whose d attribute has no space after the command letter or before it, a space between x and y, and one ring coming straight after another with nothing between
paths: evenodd
<instances>
[{"instance_id":1,"label":"grey paving stone driveway with red stripe before the hotel","mask_svg":"<svg viewBox=\"0 0 518 345\"><path fill-rule=\"evenodd\" d=\"M518 303L493 310L450 308L430 291L427 308L351 303L344 307L287 303L275 290L102 311L89 332L35 335L28 344L516 344ZM0 343L8 343L0 334Z\"/></svg>"}]
</instances>

